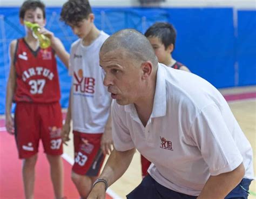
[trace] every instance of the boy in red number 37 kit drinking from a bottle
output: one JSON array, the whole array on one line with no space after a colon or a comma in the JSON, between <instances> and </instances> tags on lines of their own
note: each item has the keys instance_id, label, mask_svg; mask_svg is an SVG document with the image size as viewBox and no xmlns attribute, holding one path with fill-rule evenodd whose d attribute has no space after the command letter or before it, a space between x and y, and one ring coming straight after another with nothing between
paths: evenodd
<instances>
[{"instance_id":1,"label":"boy in red number 37 kit drinking from a bottle","mask_svg":"<svg viewBox=\"0 0 256 199\"><path fill-rule=\"evenodd\" d=\"M26 28L24 38L10 44L10 74L6 91L6 130L15 134L19 158L23 159L25 198L33 198L35 164L39 140L50 163L55 198L63 195L62 113L59 105L60 90L55 53L68 66L69 53L63 44L45 26L45 5L40 1L25 1L19 11L24 21L42 26L51 46L39 47L39 42ZM11 116L12 101L16 102L15 119Z\"/></svg>"}]
</instances>

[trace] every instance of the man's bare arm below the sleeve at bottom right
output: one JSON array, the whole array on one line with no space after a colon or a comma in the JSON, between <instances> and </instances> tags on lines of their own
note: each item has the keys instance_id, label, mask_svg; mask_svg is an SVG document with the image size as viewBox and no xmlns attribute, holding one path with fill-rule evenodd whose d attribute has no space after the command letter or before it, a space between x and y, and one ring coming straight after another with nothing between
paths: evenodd
<instances>
[{"instance_id":1,"label":"man's bare arm below the sleeve at bottom right","mask_svg":"<svg viewBox=\"0 0 256 199\"><path fill-rule=\"evenodd\" d=\"M197 199L225 198L239 184L244 174L244 164L241 163L233 171L217 176L210 176Z\"/></svg>"}]
</instances>

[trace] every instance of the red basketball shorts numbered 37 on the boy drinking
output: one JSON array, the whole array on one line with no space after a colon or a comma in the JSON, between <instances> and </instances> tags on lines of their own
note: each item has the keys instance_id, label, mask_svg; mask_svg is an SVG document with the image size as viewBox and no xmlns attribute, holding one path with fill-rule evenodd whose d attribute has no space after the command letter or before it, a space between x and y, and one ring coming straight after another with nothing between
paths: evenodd
<instances>
[{"instance_id":1,"label":"red basketball shorts numbered 37 on the boy drinking","mask_svg":"<svg viewBox=\"0 0 256 199\"><path fill-rule=\"evenodd\" d=\"M59 102L32 104L18 102L15 109L15 137L20 159L38 153L42 140L44 153L61 155L62 112Z\"/></svg>"}]
</instances>

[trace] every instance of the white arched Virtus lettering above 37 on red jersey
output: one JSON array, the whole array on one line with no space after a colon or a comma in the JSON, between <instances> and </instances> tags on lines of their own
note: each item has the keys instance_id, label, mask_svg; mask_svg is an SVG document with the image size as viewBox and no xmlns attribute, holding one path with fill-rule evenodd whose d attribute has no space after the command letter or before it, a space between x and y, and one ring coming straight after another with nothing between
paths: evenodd
<instances>
[{"instance_id":1,"label":"white arched Virtus lettering above 37 on red jersey","mask_svg":"<svg viewBox=\"0 0 256 199\"><path fill-rule=\"evenodd\" d=\"M41 66L31 67L28 70L23 71L22 73L22 80L26 81L27 79L33 76L44 76L49 80L52 80L54 74L48 69Z\"/></svg>"}]
</instances>

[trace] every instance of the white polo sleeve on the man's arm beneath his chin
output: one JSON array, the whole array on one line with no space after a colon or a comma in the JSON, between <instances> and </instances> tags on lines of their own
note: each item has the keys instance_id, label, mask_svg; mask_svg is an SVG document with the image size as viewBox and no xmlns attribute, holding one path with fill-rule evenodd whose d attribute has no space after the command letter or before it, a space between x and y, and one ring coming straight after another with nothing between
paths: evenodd
<instances>
[{"instance_id":1,"label":"white polo sleeve on the man's arm beneath his chin","mask_svg":"<svg viewBox=\"0 0 256 199\"><path fill-rule=\"evenodd\" d=\"M126 113L124 106L119 106L116 100L112 102L111 115L114 148L121 152L134 148L129 128L125 125Z\"/></svg>"}]
</instances>

